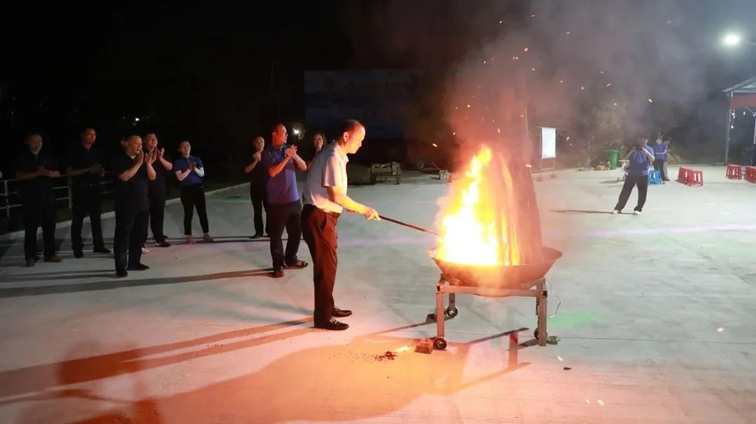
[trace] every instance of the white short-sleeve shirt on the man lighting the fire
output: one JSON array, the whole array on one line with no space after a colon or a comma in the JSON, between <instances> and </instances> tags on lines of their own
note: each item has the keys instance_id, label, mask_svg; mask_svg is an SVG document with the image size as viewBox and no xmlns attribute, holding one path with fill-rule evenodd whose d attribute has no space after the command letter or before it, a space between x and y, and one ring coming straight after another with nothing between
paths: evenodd
<instances>
[{"instance_id":1,"label":"white short-sleeve shirt on the man lighting the fire","mask_svg":"<svg viewBox=\"0 0 756 424\"><path fill-rule=\"evenodd\" d=\"M327 187L346 193L346 162L349 158L336 149L336 143L325 146L315 155L305 180L304 204L311 204L326 212L341 214L344 207L330 200Z\"/></svg>"}]
</instances>

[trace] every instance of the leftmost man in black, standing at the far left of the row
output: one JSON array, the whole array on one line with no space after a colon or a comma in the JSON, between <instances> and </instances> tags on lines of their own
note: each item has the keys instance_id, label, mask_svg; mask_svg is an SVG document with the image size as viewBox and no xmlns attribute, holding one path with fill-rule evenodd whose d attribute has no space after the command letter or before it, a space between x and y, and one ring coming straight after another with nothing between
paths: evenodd
<instances>
[{"instance_id":1,"label":"leftmost man in black, standing at the far left of the row","mask_svg":"<svg viewBox=\"0 0 756 424\"><path fill-rule=\"evenodd\" d=\"M53 179L60 177L57 164L42 150L42 136L26 137L29 150L16 159L16 178L20 180L21 210L24 221L23 254L26 266L37 262L37 229L42 226L45 262L60 262L55 254L55 194Z\"/></svg>"}]
</instances>

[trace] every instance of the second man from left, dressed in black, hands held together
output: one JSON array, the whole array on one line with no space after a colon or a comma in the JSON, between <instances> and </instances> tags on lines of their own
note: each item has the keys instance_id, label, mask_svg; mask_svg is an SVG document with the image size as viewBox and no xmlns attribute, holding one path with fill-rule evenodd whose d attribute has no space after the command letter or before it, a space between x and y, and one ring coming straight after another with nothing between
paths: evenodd
<instances>
[{"instance_id":1,"label":"second man from left, dressed in black, hands held together","mask_svg":"<svg viewBox=\"0 0 756 424\"><path fill-rule=\"evenodd\" d=\"M73 256L84 257L82 241L82 223L89 214L92 231L92 244L95 253L110 253L102 239L100 213L102 205L101 181L105 175L102 161L94 145L97 133L94 128L82 131L82 143L71 149L68 154L66 174L70 177L73 219L71 220L71 244Z\"/></svg>"}]
</instances>

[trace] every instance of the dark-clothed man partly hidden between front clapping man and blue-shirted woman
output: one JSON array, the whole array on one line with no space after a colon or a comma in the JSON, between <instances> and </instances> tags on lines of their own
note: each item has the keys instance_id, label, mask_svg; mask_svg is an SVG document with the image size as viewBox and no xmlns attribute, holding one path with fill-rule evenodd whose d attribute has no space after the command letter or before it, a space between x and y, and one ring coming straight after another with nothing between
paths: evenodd
<instances>
[{"instance_id":1,"label":"dark-clothed man partly hidden between front clapping man and blue-shirted woman","mask_svg":"<svg viewBox=\"0 0 756 424\"><path fill-rule=\"evenodd\" d=\"M173 164L166 160L166 149L157 148L157 136L153 133L144 136L144 152L146 155L156 156L155 180L150 181L148 196L150 201L150 229L155 239L155 244L160 247L170 247L163 234L163 216L166 210L166 175L173 169ZM145 228L145 231L147 229ZM144 235L145 240L147 234Z\"/></svg>"}]
</instances>

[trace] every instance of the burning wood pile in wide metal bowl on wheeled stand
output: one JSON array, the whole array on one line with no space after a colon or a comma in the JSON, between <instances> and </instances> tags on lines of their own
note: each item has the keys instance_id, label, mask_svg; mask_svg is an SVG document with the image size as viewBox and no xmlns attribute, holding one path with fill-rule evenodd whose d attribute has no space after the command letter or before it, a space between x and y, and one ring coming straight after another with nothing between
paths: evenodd
<instances>
[{"instance_id":1,"label":"burning wood pile in wide metal bowl on wheeled stand","mask_svg":"<svg viewBox=\"0 0 756 424\"><path fill-rule=\"evenodd\" d=\"M541 244L530 168L483 146L443 199L439 223L438 246L428 251L441 270L432 315L435 349L446 349L445 319L459 313L457 293L534 297L534 336L546 346L546 274L562 253Z\"/></svg>"}]
</instances>

